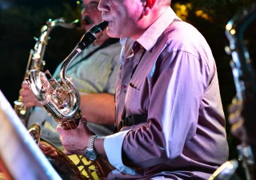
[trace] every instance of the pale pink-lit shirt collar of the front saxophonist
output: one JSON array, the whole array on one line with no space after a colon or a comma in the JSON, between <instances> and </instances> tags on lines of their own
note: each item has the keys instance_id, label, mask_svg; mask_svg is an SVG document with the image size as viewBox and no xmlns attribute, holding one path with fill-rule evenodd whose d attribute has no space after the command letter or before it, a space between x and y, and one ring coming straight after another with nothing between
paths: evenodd
<instances>
[{"instance_id":1,"label":"pale pink-lit shirt collar of the front saxophonist","mask_svg":"<svg viewBox=\"0 0 256 180\"><path fill-rule=\"evenodd\" d=\"M140 45L142 45L147 51L153 48L154 44L158 41L158 37L164 32L164 30L170 25L174 19L179 19L174 10L170 7L166 9L166 11L155 21L152 25L144 33L142 33L141 37L138 37L137 41Z\"/></svg>"}]
</instances>

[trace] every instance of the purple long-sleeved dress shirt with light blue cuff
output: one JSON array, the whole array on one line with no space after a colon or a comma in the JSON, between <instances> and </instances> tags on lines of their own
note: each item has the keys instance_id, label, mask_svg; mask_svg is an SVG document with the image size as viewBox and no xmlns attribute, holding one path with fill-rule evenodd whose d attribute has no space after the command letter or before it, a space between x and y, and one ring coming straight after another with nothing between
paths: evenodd
<instances>
[{"instance_id":1,"label":"purple long-sleeved dress shirt with light blue cuff","mask_svg":"<svg viewBox=\"0 0 256 180\"><path fill-rule=\"evenodd\" d=\"M137 42L138 53L126 48L127 42L122 53L117 124L124 107L126 117L147 118L106 136L106 155L117 168L108 178L209 178L228 158L226 121L209 45L170 8Z\"/></svg>"}]
</instances>

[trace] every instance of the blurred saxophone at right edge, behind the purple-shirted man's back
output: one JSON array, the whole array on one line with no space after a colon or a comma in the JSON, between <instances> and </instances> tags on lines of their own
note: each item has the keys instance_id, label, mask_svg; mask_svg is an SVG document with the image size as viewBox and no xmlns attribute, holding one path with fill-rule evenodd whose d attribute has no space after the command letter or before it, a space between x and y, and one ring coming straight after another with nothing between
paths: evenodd
<instances>
[{"instance_id":1,"label":"blurred saxophone at right edge, behind the purple-shirted man's back","mask_svg":"<svg viewBox=\"0 0 256 180\"><path fill-rule=\"evenodd\" d=\"M246 42L244 41L244 34L246 29L256 18L256 4L250 8L246 8L234 15L226 24L226 37L230 41L230 46L226 47L226 53L232 56L230 66L234 76L234 85L236 89L236 96L234 100L244 100L245 98L255 98L255 70L253 68L253 61L250 58ZM246 180L253 180L254 175L254 155L250 145L247 142L242 142L237 147L238 159L242 162ZM230 178L240 179L235 176L238 168L238 160L232 159L224 163L214 172L209 180L228 180Z\"/></svg>"}]
</instances>

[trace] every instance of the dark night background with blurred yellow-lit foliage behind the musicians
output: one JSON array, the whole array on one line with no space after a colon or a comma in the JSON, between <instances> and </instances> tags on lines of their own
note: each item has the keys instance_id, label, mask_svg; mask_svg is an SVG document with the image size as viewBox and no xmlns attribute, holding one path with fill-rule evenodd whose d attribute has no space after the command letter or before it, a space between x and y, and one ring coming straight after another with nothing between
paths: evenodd
<instances>
[{"instance_id":1,"label":"dark night background with blurred yellow-lit foliage behind the musicians","mask_svg":"<svg viewBox=\"0 0 256 180\"><path fill-rule=\"evenodd\" d=\"M231 57L226 54L229 45L225 36L226 23L254 0L183 0L173 1L172 7L186 22L193 24L205 37L213 51L218 68L222 104L227 118L227 107L235 96ZM184 12L184 7L187 12ZM34 37L40 36L42 25L49 18L65 18L73 22L80 18L80 7L74 0L0 0L0 89L10 104L18 99L18 91L24 79L30 49L34 48ZM253 31L256 32L256 31ZM76 29L54 28L46 47L46 68L54 72L56 66L78 43L82 32ZM255 40L255 38L254 38ZM230 158L236 158L236 139L230 135Z\"/></svg>"}]
</instances>

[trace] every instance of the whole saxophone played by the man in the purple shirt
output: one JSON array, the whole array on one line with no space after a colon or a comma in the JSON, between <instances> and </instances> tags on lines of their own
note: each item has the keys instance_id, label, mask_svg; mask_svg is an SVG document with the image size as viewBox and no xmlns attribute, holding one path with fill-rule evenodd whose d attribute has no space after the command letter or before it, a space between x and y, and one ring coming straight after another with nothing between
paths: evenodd
<instances>
[{"instance_id":1,"label":"whole saxophone played by the man in the purple shirt","mask_svg":"<svg viewBox=\"0 0 256 180\"><path fill-rule=\"evenodd\" d=\"M70 53L68 57L63 61L61 70L59 72L60 80L57 81L51 76L49 71L41 72L38 69L30 70L29 76L26 78L30 88L34 92L34 95L37 97L38 101L46 108L47 112L54 117L54 119L62 124L64 129L71 129L78 126L78 121L82 117L80 114L80 96L77 88L71 82L70 78L66 76L67 67L78 56L82 50L92 44L96 39L102 36L102 31L108 25L107 22L101 22L98 25L94 25L89 29L78 42L74 50ZM74 119L77 119L74 122ZM38 126L35 128L35 137L40 137L38 134ZM42 141L43 139L38 139L37 141ZM54 151L59 152L57 147L46 144L46 141L43 140L45 146L50 146ZM62 158L62 155L57 155L55 153L54 159L58 157ZM110 163L106 158L98 158L97 161L90 162L86 159L84 162L83 159L79 158L77 166L81 166L82 163L86 164L83 170L86 171L87 179L103 179L106 178L106 175L113 170L113 167L110 166ZM82 165L83 166L83 165ZM83 179L83 178L81 178Z\"/></svg>"}]
</instances>

